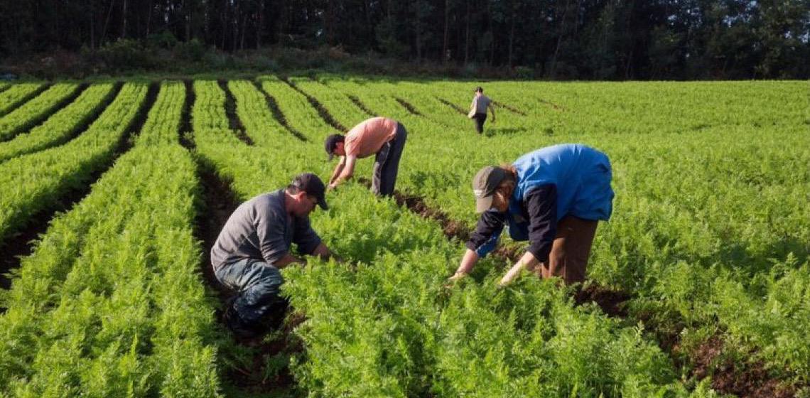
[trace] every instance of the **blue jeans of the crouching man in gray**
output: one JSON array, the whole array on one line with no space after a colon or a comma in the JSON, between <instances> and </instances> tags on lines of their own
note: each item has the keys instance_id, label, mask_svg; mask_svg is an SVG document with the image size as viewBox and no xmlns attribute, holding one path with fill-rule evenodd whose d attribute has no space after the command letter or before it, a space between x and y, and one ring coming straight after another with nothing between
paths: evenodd
<instances>
[{"instance_id":1,"label":"blue jeans of the crouching man in gray","mask_svg":"<svg viewBox=\"0 0 810 398\"><path fill-rule=\"evenodd\" d=\"M278 268L258 259L214 267L214 275L237 292L232 306L246 323L258 322L279 297L279 287L284 283Z\"/></svg>"}]
</instances>

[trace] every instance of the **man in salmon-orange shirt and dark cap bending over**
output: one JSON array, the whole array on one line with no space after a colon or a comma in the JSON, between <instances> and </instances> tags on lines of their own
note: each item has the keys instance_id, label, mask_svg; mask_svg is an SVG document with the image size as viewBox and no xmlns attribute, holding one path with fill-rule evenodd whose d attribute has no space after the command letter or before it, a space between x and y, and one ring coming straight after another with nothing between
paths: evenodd
<instances>
[{"instance_id":1,"label":"man in salmon-orange shirt and dark cap bending over","mask_svg":"<svg viewBox=\"0 0 810 398\"><path fill-rule=\"evenodd\" d=\"M371 190L377 195L394 195L405 139L405 126L391 118L366 119L345 136L330 135L326 138L326 153L329 160L335 155L340 156L340 160L329 178L329 188L334 189L340 182L352 178L358 158L375 155Z\"/></svg>"}]
</instances>

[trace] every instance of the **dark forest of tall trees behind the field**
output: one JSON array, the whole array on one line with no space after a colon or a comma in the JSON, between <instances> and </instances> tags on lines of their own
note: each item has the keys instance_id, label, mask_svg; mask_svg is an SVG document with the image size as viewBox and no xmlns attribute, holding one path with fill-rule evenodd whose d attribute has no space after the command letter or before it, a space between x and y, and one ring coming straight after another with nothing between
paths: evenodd
<instances>
[{"instance_id":1,"label":"dark forest of tall trees behind the field","mask_svg":"<svg viewBox=\"0 0 810 398\"><path fill-rule=\"evenodd\" d=\"M808 78L810 0L0 0L0 40L6 61L109 69L309 53L548 79Z\"/></svg>"}]
</instances>

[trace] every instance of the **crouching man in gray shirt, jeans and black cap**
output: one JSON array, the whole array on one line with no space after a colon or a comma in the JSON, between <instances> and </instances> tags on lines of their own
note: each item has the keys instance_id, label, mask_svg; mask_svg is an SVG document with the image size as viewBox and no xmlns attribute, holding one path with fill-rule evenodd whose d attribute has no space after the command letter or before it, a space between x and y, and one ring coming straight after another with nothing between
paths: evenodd
<instances>
[{"instance_id":1,"label":"crouching man in gray shirt, jeans and black cap","mask_svg":"<svg viewBox=\"0 0 810 398\"><path fill-rule=\"evenodd\" d=\"M225 223L211 248L211 264L216 279L237 292L224 311L224 323L238 337L262 332L259 319L279 299L279 268L306 263L290 255L291 243L307 255L331 255L309 224L316 205L327 208L325 190L318 176L303 173L286 189L242 203Z\"/></svg>"}]
</instances>

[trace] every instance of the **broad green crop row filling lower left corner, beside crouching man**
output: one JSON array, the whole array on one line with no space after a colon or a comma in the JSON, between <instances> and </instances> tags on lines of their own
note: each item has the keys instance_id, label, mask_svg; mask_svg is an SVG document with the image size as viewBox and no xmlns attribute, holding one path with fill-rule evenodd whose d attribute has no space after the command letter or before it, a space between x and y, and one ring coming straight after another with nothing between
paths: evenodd
<instances>
[{"instance_id":1,"label":"broad green crop row filling lower left corner, beside crouching man","mask_svg":"<svg viewBox=\"0 0 810 398\"><path fill-rule=\"evenodd\" d=\"M0 316L0 395L220 396L196 168L163 127L182 85L163 86L134 148L23 259Z\"/></svg>"}]
</instances>

